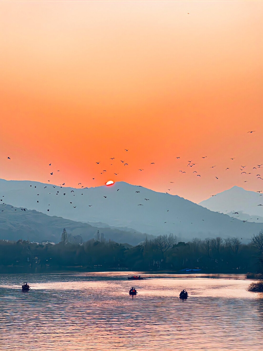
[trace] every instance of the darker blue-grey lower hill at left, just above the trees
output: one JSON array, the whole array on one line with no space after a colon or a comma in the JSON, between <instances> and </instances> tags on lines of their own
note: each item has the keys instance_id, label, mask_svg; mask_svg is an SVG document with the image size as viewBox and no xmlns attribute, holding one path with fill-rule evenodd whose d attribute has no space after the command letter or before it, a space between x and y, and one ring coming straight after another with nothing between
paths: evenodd
<instances>
[{"instance_id":1,"label":"darker blue-grey lower hill at left, just above the trees","mask_svg":"<svg viewBox=\"0 0 263 351\"><path fill-rule=\"evenodd\" d=\"M42 242L61 241L61 233L66 228L67 233L72 236L81 235L83 241L97 238L97 231L103 232L106 240L113 240L118 243L128 243L137 245L145 239L145 234L128 233L126 231L94 227L87 223L75 222L56 216L47 216L47 214L35 210L24 211L21 208L11 207L11 205L0 206L0 239L18 240L23 239L30 241Z\"/></svg>"}]
</instances>

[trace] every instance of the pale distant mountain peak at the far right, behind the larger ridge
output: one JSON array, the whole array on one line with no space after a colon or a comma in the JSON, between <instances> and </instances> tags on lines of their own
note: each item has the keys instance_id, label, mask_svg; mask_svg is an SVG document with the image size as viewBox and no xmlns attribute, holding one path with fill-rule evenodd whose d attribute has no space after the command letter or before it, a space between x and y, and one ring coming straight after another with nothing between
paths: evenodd
<instances>
[{"instance_id":1,"label":"pale distant mountain peak at the far right, behind the larger ridge","mask_svg":"<svg viewBox=\"0 0 263 351\"><path fill-rule=\"evenodd\" d=\"M199 205L211 211L229 213L231 216L239 216L238 219L254 222L263 221L263 195L254 191L244 190L239 186L233 186L216 196L202 201ZM235 212L238 212L238 214Z\"/></svg>"}]
</instances>

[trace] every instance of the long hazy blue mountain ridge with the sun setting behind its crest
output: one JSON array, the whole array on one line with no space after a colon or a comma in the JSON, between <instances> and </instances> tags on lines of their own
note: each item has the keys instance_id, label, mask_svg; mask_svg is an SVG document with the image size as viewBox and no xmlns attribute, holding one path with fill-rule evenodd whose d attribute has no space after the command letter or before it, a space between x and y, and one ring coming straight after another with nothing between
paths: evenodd
<instances>
[{"instance_id":1,"label":"long hazy blue mountain ridge with the sun setting behind its crest","mask_svg":"<svg viewBox=\"0 0 263 351\"><path fill-rule=\"evenodd\" d=\"M101 221L154 235L174 233L184 240L214 236L251 238L263 228L263 224L243 223L179 196L124 182L75 189L33 181L0 180L0 199L49 216L83 222Z\"/></svg>"}]
</instances>

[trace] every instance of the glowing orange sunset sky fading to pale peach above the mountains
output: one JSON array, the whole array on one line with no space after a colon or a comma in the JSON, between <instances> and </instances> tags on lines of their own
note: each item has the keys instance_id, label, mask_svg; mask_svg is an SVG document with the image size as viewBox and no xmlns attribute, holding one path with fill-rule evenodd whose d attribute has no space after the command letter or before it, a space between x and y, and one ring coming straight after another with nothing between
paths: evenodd
<instances>
[{"instance_id":1,"label":"glowing orange sunset sky fading to pale peach above the mountains","mask_svg":"<svg viewBox=\"0 0 263 351\"><path fill-rule=\"evenodd\" d=\"M0 178L263 190L262 22L262 1L1 1Z\"/></svg>"}]
</instances>

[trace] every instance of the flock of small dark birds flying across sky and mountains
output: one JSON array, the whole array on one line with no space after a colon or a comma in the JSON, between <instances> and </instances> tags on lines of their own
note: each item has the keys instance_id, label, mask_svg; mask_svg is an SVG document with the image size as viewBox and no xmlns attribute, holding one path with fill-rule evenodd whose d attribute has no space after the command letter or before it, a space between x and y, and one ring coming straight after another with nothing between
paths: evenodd
<instances>
[{"instance_id":1,"label":"flock of small dark birds flying across sky and mountains","mask_svg":"<svg viewBox=\"0 0 263 351\"><path fill-rule=\"evenodd\" d=\"M253 133L253 132L255 132L255 131L249 131L249 132L247 132L247 133ZM125 152L128 152L129 151L129 149L124 149L125 150ZM7 157L7 159L8 160L11 160L11 158L8 156ZM180 156L176 156L176 159L180 159ZM204 160L204 159L207 159L207 156L202 156L202 159ZM230 158L230 160L234 160L235 158L233 157L233 158ZM110 158L110 160L115 160L115 157L111 157ZM129 164L127 163L127 162L125 162L124 160L120 160L120 162L124 165L124 166L129 166ZM96 164L97 165L100 165L101 164L101 162L100 161L96 161ZM49 163L48 164L50 167L52 166L52 163ZM111 164L111 165L113 165L113 164ZM151 162L150 163L150 165L155 165L155 162ZM195 161L193 161L193 160L188 160L188 162L187 162L187 164L186 164L186 171L184 171L184 170L179 170L179 172L180 173L187 173L187 169L189 168L189 170L192 168L192 167L195 167L197 165L197 163L195 162ZM263 164L259 164L259 165L256 165L255 167L253 167L253 170L254 169L258 169L258 168L262 168L262 166L263 166ZM210 166L210 168L215 168L216 167L216 165L213 165L213 166ZM242 174L245 174L245 175L250 175L250 174L252 174L252 172L246 172L246 170L247 170L247 166L246 165L241 165L240 166L241 168L240 168L240 171L241 171L241 175ZM144 169L142 169L142 168L138 168L138 170L140 171L140 172L142 172ZM229 167L227 167L227 168L225 168L225 171L227 171L227 170L229 170ZM60 172L60 170L57 170L56 172ZM100 174L103 174L104 172L107 172L107 170L102 170L102 172L100 172ZM201 177L201 174L198 174L198 172L197 171L191 171L193 174L196 174L196 177ZM53 176L54 175L54 171L52 171L52 172L49 172L49 174L50 174L50 176ZM119 173L114 173L115 174L115 176L117 176ZM263 178L261 178L261 175L257 172L257 175L256 175L256 177L257 177L257 179L262 179L263 180ZM219 179L219 177L217 177L217 176L215 176L215 178L216 178L216 180L218 180ZM92 178L93 180L95 179L95 177L93 177ZM50 179L48 179L47 180L48 182L50 182ZM247 180L244 180L244 182L246 183L247 182ZM170 181L170 183L175 183L174 181ZM83 189L88 189L88 187L84 187L83 185L82 185L82 183L78 183L78 186L80 186L81 185L81 188L83 188ZM31 187L32 187L32 185L30 185ZM59 186L60 186L60 188L63 188L63 186L65 186L65 182L63 182L62 184L59 184ZM56 185L53 185L53 188L55 188L56 187ZM36 186L35 186L35 188L36 188ZM44 188L47 188L47 186L45 186ZM117 189L116 191L119 191L120 189ZM171 188L168 188L167 189L168 191L171 191ZM258 193L260 193L260 192L262 192L262 191L257 191ZM71 192L70 193L74 193L74 190L71 190ZM135 191L135 193L140 193L140 191ZM165 192L165 193L167 193L168 194L168 192ZM49 193L49 194L51 194L51 193ZM59 191L56 191L56 195L58 195L59 194ZM81 193L81 195L83 195L83 193ZM39 196L39 194L37 194L37 196ZM66 193L65 192L63 192L63 196L66 196ZM73 196L75 196L75 194L73 194ZM216 196L216 195L211 195L211 197L213 197L213 196ZM262 196L262 194L260 194L259 196ZM104 199L107 199L107 196L105 195L105 196L103 196L104 197ZM144 198L144 200L145 201L150 201L150 199L148 199L148 198ZM39 203L39 200L36 200L36 202L37 203ZM75 205L74 206L74 204L73 204L73 201L69 201L69 203L70 203L70 205L72 205L72 207L73 208L76 208L77 206ZM1 204L5 204L4 202L3 202L3 199L1 199ZM50 206L50 204L48 204L48 206ZM93 204L88 204L88 206L89 207L91 207L91 206L93 206ZM144 206L144 204L137 204L137 206ZM263 206L262 204L259 204L258 206ZM13 206L12 206L13 207ZM21 208L21 210L22 211L26 211L26 208ZM16 211L16 209L15 209L15 211ZM169 210L167 210L167 212L168 212ZM4 210L1 210L1 212L4 212ZM49 212L49 208L47 208L47 212ZM233 214L238 214L238 212L234 212ZM232 218L237 218L237 217L232 217ZM204 219L202 219L202 221L204 221ZM246 222L247 220L243 220L243 222ZM164 223L167 223L167 222L164 222Z\"/></svg>"}]
</instances>

